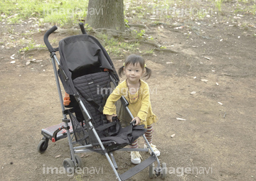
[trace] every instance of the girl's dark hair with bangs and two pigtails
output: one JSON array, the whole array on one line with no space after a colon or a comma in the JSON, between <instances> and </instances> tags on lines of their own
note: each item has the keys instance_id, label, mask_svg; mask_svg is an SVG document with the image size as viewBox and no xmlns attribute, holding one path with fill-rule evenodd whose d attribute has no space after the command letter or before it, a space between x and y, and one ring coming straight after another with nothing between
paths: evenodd
<instances>
[{"instance_id":1,"label":"girl's dark hair with bangs and two pigtails","mask_svg":"<svg viewBox=\"0 0 256 181\"><path fill-rule=\"evenodd\" d=\"M146 79L149 79L152 72L151 69L145 66L145 60L142 56L134 54L129 55L127 59L124 61L124 65L122 65L122 67L119 68L119 76L122 77L122 75L124 74L124 67L126 67L129 64L135 65L137 63L139 63L139 65L142 67L142 70L144 70L144 68L146 69L146 74L144 75L144 77L146 77Z\"/></svg>"}]
</instances>

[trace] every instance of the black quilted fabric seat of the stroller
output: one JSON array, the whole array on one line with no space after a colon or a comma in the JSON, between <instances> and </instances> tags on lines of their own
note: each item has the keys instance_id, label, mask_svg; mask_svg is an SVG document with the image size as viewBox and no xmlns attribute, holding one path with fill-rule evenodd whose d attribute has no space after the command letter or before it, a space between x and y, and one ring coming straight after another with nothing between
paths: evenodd
<instances>
[{"instance_id":1,"label":"black quilted fabric seat of the stroller","mask_svg":"<svg viewBox=\"0 0 256 181\"><path fill-rule=\"evenodd\" d=\"M145 133L146 129L144 126L131 125L126 128L122 128L119 124L119 120L114 119L112 123L108 123L106 116L102 114L103 106L105 105L108 95L112 91L112 87L110 87L109 72L105 71L82 75L73 79L73 84L75 89L78 90L82 103L85 105L85 108L92 119L92 125L97 131L97 135L103 143L107 143L106 150L108 153L131 144L139 138L139 136L142 136ZM74 125L74 122L77 120L75 120L75 117L72 115L70 115L70 118ZM76 125L80 127L80 124L77 123ZM85 129L81 127L79 129L78 138L76 126L74 126L74 129L75 138L77 140L81 140L81 134L86 136L87 133L89 133L89 138L86 143L90 143L92 145L98 143L97 138L95 138L92 131L85 131ZM85 136L82 136L82 138L85 138ZM85 142L82 141L81 144L85 144Z\"/></svg>"}]
</instances>

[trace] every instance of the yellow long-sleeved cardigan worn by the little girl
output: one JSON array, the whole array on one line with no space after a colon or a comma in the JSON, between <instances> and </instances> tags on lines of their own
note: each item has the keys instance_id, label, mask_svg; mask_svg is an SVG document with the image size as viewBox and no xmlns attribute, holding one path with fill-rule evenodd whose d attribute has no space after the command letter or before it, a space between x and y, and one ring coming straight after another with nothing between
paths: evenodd
<instances>
[{"instance_id":1,"label":"yellow long-sleeved cardigan worn by the little girl","mask_svg":"<svg viewBox=\"0 0 256 181\"><path fill-rule=\"evenodd\" d=\"M103 114L112 115L117 114L115 102L117 102L120 97L124 96L129 102L128 108L132 113L132 116L138 116L141 119L141 124L151 125L156 122L157 117L153 113L151 108L151 102L149 97L149 85L140 79L139 91L135 94L129 93L129 88L127 86L127 81L121 82L108 97L105 107L103 109Z\"/></svg>"}]
</instances>

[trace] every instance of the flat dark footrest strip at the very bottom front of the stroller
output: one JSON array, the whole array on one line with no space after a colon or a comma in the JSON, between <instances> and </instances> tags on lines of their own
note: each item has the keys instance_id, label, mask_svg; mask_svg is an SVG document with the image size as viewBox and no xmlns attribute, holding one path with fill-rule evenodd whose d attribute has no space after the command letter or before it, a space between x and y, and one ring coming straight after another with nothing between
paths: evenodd
<instances>
[{"instance_id":1,"label":"flat dark footrest strip at the very bottom front of the stroller","mask_svg":"<svg viewBox=\"0 0 256 181\"><path fill-rule=\"evenodd\" d=\"M141 172L145 168L147 168L149 165L154 163L156 161L156 158L153 156L150 156L146 160L144 160L142 163L139 163L138 165L134 166L127 172L124 172L122 175L120 175L121 180L127 180L133 175L136 175L138 172Z\"/></svg>"}]
</instances>

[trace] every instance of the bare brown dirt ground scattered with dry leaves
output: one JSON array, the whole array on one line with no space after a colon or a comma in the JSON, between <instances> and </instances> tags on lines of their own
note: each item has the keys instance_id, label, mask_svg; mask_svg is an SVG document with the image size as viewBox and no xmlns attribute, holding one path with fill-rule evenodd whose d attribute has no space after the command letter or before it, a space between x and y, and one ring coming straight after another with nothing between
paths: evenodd
<instances>
[{"instance_id":1,"label":"bare brown dirt ground scattered with dry leaves","mask_svg":"<svg viewBox=\"0 0 256 181\"><path fill-rule=\"evenodd\" d=\"M159 44L177 52L143 55L153 70L147 82L159 117L154 144L167 165L166 180L256 180L256 16L242 13L240 21L247 26L237 19L228 22L227 16L148 26ZM43 154L36 149L41 129L59 124L62 114L49 53L20 54L23 47L11 43L31 31L33 40L43 44L45 31L35 29L0 28L0 180L115 180L107 159L97 153L80 155L88 168L83 174L46 173L49 167L60 169L70 150L67 139L49 142ZM66 36L53 35L56 40ZM142 44L140 49L150 48ZM33 59L41 61L26 65ZM120 60L124 57L113 57L115 67ZM129 153L114 155L119 172L132 167ZM149 180L148 175L145 169L129 180Z\"/></svg>"}]
</instances>

